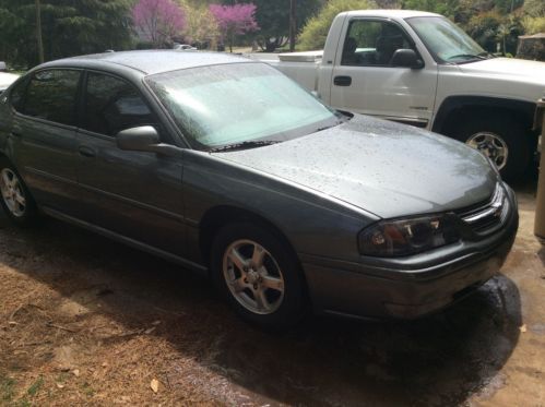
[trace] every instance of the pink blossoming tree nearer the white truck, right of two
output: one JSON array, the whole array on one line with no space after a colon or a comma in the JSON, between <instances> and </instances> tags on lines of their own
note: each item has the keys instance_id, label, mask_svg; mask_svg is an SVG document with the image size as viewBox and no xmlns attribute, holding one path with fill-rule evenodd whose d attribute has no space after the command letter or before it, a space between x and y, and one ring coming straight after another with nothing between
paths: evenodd
<instances>
[{"instance_id":1,"label":"pink blossoming tree nearer the white truck, right of two","mask_svg":"<svg viewBox=\"0 0 545 407\"><path fill-rule=\"evenodd\" d=\"M222 39L227 39L229 43L229 50L232 52L235 36L259 29L258 23L256 22L256 4L211 4L210 12L217 22Z\"/></svg>"}]
</instances>

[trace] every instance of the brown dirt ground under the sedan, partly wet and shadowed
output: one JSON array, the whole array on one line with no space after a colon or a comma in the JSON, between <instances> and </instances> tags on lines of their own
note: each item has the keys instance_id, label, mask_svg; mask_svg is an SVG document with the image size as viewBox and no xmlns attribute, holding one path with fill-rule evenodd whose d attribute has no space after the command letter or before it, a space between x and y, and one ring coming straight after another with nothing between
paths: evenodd
<instances>
[{"instance_id":1,"label":"brown dirt ground under the sedan, partly wet and shadowed","mask_svg":"<svg viewBox=\"0 0 545 407\"><path fill-rule=\"evenodd\" d=\"M48 219L0 218L2 406L545 406L545 247L532 189L502 274L412 323L270 335L211 285ZM152 388L154 387L154 388Z\"/></svg>"}]
</instances>

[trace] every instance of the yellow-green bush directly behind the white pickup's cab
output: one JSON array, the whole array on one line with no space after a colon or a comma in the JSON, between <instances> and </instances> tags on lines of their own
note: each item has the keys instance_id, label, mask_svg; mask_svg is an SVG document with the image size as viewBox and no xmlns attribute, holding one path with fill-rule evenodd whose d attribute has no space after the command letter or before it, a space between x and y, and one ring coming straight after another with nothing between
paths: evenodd
<instances>
[{"instance_id":1,"label":"yellow-green bush directly behind the white pickup's cab","mask_svg":"<svg viewBox=\"0 0 545 407\"><path fill-rule=\"evenodd\" d=\"M299 35L299 48L303 50L322 49L325 45L329 27L336 14L348 10L376 9L374 0L330 0L303 27Z\"/></svg>"}]
</instances>

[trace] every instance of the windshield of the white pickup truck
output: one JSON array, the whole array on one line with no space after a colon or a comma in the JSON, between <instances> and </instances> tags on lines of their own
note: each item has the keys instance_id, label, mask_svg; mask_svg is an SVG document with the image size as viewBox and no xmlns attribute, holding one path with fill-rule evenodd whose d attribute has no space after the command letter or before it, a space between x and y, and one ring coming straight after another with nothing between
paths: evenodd
<instances>
[{"instance_id":1,"label":"windshield of the white pickup truck","mask_svg":"<svg viewBox=\"0 0 545 407\"><path fill-rule=\"evenodd\" d=\"M448 19L411 17L406 21L438 62L466 63L493 57Z\"/></svg>"}]
</instances>

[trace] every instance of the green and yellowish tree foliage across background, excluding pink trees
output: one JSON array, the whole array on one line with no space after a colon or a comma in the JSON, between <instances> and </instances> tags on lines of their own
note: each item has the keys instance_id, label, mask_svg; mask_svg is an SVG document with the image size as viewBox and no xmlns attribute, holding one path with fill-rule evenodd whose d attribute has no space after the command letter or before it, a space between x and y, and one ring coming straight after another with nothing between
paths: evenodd
<instances>
[{"instance_id":1,"label":"green and yellowish tree foliage across background, excluding pink trees","mask_svg":"<svg viewBox=\"0 0 545 407\"><path fill-rule=\"evenodd\" d=\"M173 41L215 49L220 24L211 4L256 5L257 32L234 38L235 45L259 44L273 51L287 41L289 0L171 0L185 15L168 40L151 41L135 28L139 0L40 0L46 60L74 55L146 47ZM519 35L545 32L545 0L296 0L297 49L322 48L334 15L344 10L401 8L447 15L486 50L513 55ZM12 68L38 62L35 0L0 0L0 60Z\"/></svg>"}]
</instances>

